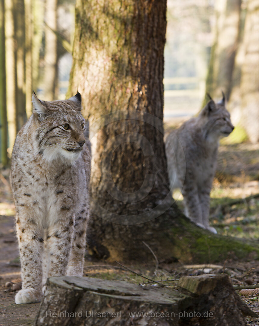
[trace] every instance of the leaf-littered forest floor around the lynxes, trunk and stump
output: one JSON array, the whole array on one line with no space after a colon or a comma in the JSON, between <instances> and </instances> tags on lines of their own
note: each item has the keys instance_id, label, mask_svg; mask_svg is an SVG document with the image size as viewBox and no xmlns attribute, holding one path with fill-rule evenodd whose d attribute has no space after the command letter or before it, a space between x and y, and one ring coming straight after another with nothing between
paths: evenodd
<instances>
[{"instance_id":1,"label":"leaf-littered forest floor around the lynxes, trunk and stump","mask_svg":"<svg viewBox=\"0 0 259 326\"><path fill-rule=\"evenodd\" d=\"M0 171L0 325L33 325L39 304L16 305L14 297L20 286L20 262L14 231L14 212L8 170ZM176 196L182 207L181 195ZM211 192L211 225L219 234L259 240L259 144L221 145L218 169ZM157 257L159 261L159 257ZM176 287L184 275L227 273L234 286L259 285L259 261L240 261L230 253L217 265L184 265L181 261L155 261L127 267L118 264L86 261L84 275L138 284L152 280ZM168 281L173 280L173 281ZM149 282L150 286L157 286ZM259 289L237 289L248 306L259 314ZM259 319L247 318L250 326L259 326Z\"/></svg>"}]
</instances>

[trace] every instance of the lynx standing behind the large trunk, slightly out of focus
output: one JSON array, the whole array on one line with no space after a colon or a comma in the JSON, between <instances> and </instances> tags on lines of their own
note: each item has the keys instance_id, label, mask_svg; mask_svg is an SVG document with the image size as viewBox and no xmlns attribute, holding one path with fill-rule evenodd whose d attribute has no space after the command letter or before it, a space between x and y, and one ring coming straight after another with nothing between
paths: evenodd
<instances>
[{"instance_id":1,"label":"lynx standing behind the large trunk, slightly out of focus","mask_svg":"<svg viewBox=\"0 0 259 326\"><path fill-rule=\"evenodd\" d=\"M225 108L225 96L219 103L212 99L198 117L186 121L166 139L170 188L180 188L185 215L198 226L209 226L210 192L216 170L219 140L234 129Z\"/></svg>"}]
</instances>

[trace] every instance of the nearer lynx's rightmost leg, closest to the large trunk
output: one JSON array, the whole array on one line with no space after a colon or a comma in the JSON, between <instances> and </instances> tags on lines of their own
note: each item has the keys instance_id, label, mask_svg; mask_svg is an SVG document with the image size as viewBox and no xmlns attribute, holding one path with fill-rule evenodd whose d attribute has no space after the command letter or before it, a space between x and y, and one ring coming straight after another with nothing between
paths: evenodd
<instances>
[{"instance_id":1,"label":"nearer lynx's rightmost leg, closest to the large trunk","mask_svg":"<svg viewBox=\"0 0 259 326\"><path fill-rule=\"evenodd\" d=\"M75 217L74 239L67 267L67 275L69 276L83 275L86 247L86 227L88 219L87 211L88 210L86 207L84 207Z\"/></svg>"}]
</instances>

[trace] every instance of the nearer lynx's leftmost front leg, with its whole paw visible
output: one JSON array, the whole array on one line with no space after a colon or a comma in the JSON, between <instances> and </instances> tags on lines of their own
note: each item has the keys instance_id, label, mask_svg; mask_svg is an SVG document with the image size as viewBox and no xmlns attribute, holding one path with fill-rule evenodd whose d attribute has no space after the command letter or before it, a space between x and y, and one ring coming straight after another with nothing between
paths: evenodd
<instances>
[{"instance_id":1,"label":"nearer lynx's leftmost front leg, with its whole paw visible","mask_svg":"<svg viewBox=\"0 0 259 326\"><path fill-rule=\"evenodd\" d=\"M41 254L43 238L32 212L22 212L21 210L20 214L17 213L16 230L20 250L22 289L16 294L15 303L38 302L42 296Z\"/></svg>"}]
</instances>

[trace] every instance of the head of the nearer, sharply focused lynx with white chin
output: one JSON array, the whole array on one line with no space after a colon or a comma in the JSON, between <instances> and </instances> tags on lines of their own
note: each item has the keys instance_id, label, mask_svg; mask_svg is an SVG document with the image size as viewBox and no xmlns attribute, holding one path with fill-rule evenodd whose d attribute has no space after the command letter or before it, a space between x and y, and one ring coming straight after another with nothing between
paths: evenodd
<instances>
[{"instance_id":1,"label":"head of the nearer, sharply focused lynx with white chin","mask_svg":"<svg viewBox=\"0 0 259 326\"><path fill-rule=\"evenodd\" d=\"M39 154L48 162L61 158L72 163L86 142L88 125L81 114L81 95L67 100L42 101L32 96L35 139Z\"/></svg>"}]
</instances>

